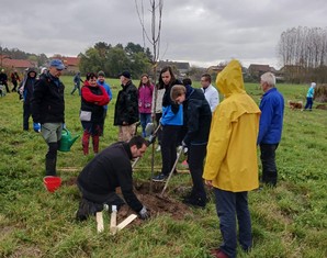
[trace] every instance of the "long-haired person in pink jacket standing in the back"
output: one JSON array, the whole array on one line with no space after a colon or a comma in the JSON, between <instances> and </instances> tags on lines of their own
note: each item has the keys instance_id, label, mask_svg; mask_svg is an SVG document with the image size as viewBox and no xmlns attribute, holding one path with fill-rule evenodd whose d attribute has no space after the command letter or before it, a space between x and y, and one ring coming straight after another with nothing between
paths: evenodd
<instances>
[{"instance_id":1,"label":"long-haired person in pink jacket standing in the back","mask_svg":"<svg viewBox=\"0 0 327 258\"><path fill-rule=\"evenodd\" d=\"M151 122L154 86L150 83L149 76L144 74L138 86L138 112L142 125L142 136L145 137L145 127Z\"/></svg>"}]
</instances>

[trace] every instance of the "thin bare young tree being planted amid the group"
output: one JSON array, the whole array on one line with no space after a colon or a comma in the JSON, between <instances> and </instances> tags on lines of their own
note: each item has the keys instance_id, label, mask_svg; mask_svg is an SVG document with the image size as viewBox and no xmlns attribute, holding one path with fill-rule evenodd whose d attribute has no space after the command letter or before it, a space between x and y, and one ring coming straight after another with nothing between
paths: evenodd
<instances>
[{"instance_id":1,"label":"thin bare young tree being planted amid the group","mask_svg":"<svg viewBox=\"0 0 327 258\"><path fill-rule=\"evenodd\" d=\"M143 32L143 43L144 49L146 48L146 40L153 47L153 82L155 85L155 92L154 92L154 106L153 110L156 112L157 108L157 65L159 60L160 54L160 35L161 35L161 22L162 22L162 9L164 9L164 0L149 0L149 12L150 12L150 30L146 30L146 21L145 21L145 7L143 0L135 0L136 12L139 19L139 23L142 26ZM159 125L157 125L159 126ZM155 145L153 144L153 152L151 152L151 178L154 177L154 167L155 167ZM153 191L153 180L150 180L150 192Z\"/></svg>"}]
</instances>

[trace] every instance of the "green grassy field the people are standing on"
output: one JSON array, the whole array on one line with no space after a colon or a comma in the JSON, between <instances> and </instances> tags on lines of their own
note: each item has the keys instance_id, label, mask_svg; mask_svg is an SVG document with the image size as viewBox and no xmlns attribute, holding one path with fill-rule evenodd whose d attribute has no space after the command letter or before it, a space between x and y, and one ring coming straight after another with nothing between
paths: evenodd
<instances>
[{"instance_id":1,"label":"green grassy field the people are standing on","mask_svg":"<svg viewBox=\"0 0 327 258\"><path fill-rule=\"evenodd\" d=\"M80 99L70 94L71 77L66 85L66 125L74 135L82 134L79 122ZM110 103L104 137L100 148L116 141ZM135 81L138 83L138 81ZM199 87L199 82L194 83ZM261 91L247 85L259 103ZM303 100L307 86L280 85L285 100ZM22 131L22 102L16 93L0 98L0 257L210 257L222 237L212 201L205 210L193 210L183 221L168 215L153 217L140 226L116 236L109 231L97 234L95 221L75 221L79 192L67 182L76 177L92 155L84 157L78 141L69 153L58 154L64 186L48 193L43 186L46 145L40 134ZM32 127L32 126L31 126ZM327 112L291 111L285 108L284 128L277 152L279 183L249 194L253 248L239 257L327 257ZM143 158L135 178L149 178L149 155ZM156 167L160 156L156 154ZM258 165L260 167L260 165ZM144 169L143 169L144 168ZM173 177L170 187L190 186L189 175ZM105 214L108 224L110 217Z\"/></svg>"}]
</instances>

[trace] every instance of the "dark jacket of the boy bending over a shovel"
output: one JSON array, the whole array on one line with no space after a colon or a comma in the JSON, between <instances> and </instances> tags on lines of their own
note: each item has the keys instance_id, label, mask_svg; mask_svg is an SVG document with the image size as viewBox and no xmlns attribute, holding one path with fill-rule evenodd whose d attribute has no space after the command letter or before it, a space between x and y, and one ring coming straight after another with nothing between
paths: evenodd
<instances>
[{"instance_id":1,"label":"dark jacket of the boy bending over a shovel","mask_svg":"<svg viewBox=\"0 0 327 258\"><path fill-rule=\"evenodd\" d=\"M187 145L206 144L208 139L212 112L201 89L187 86L187 123L188 133L184 136Z\"/></svg>"}]
</instances>

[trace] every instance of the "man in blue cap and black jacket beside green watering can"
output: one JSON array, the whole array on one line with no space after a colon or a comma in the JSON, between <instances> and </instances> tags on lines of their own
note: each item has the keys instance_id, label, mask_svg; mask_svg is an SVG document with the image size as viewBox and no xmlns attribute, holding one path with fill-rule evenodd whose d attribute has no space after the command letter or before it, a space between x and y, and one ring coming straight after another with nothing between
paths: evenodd
<instances>
[{"instance_id":1,"label":"man in blue cap and black jacket beside green watering can","mask_svg":"<svg viewBox=\"0 0 327 258\"><path fill-rule=\"evenodd\" d=\"M56 176L57 150L65 126L65 86L59 80L65 66L61 60L53 59L48 72L36 83L32 98L34 131L41 132L48 145L45 155L45 175Z\"/></svg>"}]
</instances>

